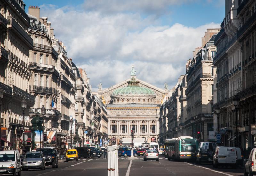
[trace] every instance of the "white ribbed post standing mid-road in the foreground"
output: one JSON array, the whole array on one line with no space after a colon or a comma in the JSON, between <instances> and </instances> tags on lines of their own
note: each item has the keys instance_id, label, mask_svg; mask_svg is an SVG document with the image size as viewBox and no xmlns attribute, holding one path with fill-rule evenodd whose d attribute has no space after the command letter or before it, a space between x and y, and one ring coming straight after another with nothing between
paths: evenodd
<instances>
[{"instance_id":1,"label":"white ribbed post standing mid-road in the foreground","mask_svg":"<svg viewBox=\"0 0 256 176\"><path fill-rule=\"evenodd\" d=\"M108 176L118 176L118 148L110 146L108 151Z\"/></svg>"}]
</instances>

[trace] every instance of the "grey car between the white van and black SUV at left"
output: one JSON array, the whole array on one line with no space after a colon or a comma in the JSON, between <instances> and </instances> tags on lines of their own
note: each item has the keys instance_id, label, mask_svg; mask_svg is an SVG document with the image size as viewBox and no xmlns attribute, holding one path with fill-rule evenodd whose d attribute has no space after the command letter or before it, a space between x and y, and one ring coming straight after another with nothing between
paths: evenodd
<instances>
[{"instance_id":1,"label":"grey car between the white van and black SUV at left","mask_svg":"<svg viewBox=\"0 0 256 176\"><path fill-rule=\"evenodd\" d=\"M22 161L22 170L41 169L45 170L45 159L41 151L27 152Z\"/></svg>"}]
</instances>

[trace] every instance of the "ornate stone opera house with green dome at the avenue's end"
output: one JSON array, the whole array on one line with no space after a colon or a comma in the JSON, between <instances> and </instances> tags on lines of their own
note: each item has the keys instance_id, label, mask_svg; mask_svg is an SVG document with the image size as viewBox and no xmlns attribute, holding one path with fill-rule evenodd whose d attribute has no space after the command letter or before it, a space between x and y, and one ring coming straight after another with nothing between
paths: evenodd
<instances>
[{"instance_id":1,"label":"ornate stone opera house with green dome at the avenue's end","mask_svg":"<svg viewBox=\"0 0 256 176\"><path fill-rule=\"evenodd\" d=\"M131 79L98 91L107 106L112 144L130 145L131 130L135 145L158 140L159 108L167 91L137 79L134 71Z\"/></svg>"}]
</instances>

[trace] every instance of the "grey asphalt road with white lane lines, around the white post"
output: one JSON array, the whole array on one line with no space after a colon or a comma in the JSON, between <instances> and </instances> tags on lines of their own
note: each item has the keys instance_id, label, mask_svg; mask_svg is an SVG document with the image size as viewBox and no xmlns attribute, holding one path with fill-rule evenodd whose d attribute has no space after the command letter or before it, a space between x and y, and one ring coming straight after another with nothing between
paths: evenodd
<instances>
[{"instance_id":1,"label":"grey asphalt road with white lane lines, around the white post","mask_svg":"<svg viewBox=\"0 0 256 176\"><path fill-rule=\"evenodd\" d=\"M119 157L119 176L242 176L244 170L241 168L218 168L211 164L198 165L191 162L168 161L160 156L157 161L143 161L143 156L135 160ZM130 163L131 162L131 163ZM131 165L130 169L128 169ZM129 175L127 175L129 172ZM59 168L52 169L47 166L46 170L22 171L22 176L107 176L107 159L79 159L79 162L60 162Z\"/></svg>"}]
</instances>

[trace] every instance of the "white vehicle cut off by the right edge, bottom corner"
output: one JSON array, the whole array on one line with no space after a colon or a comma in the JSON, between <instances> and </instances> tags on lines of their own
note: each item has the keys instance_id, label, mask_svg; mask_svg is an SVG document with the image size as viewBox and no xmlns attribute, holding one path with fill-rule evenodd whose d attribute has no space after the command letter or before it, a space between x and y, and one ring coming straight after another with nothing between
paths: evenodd
<instances>
[{"instance_id":1,"label":"white vehicle cut off by the right edge, bottom corner","mask_svg":"<svg viewBox=\"0 0 256 176\"><path fill-rule=\"evenodd\" d=\"M252 176L256 174L256 159L255 159L256 148L253 148L250 152L248 161L245 163L244 166L244 176Z\"/></svg>"}]
</instances>

